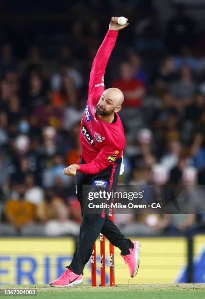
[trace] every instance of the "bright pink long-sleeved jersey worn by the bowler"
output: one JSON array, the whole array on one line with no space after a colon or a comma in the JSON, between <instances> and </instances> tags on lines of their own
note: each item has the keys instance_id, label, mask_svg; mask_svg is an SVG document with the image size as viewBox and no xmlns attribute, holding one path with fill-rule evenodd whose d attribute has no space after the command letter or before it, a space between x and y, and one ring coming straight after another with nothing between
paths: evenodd
<instances>
[{"instance_id":1,"label":"bright pink long-sleeved jersey worn by the bowler","mask_svg":"<svg viewBox=\"0 0 205 299\"><path fill-rule=\"evenodd\" d=\"M121 119L109 124L95 112L104 91L104 72L117 40L118 31L108 30L93 61L90 72L88 101L83 113L80 141L82 156L87 164L80 164L81 172L97 173L120 158L125 147L125 136Z\"/></svg>"}]
</instances>

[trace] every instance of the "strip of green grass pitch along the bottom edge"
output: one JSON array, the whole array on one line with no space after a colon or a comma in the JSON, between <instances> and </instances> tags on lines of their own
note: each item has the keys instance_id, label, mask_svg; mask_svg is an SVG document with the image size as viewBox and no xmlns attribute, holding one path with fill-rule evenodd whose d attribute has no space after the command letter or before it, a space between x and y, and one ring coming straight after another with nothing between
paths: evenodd
<instances>
[{"instance_id":1,"label":"strip of green grass pitch along the bottom edge","mask_svg":"<svg viewBox=\"0 0 205 299\"><path fill-rule=\"evenodd\" d=\"M33 299L195 299L205 298L205 284L129 284L116 287L95 287L80 284L68 288L54 288L47 285L13 285L3 288L36 288L37 296L9 296L9 298ZM8 296L0 296L6 298Z\"/></svg>"}]
</instances>

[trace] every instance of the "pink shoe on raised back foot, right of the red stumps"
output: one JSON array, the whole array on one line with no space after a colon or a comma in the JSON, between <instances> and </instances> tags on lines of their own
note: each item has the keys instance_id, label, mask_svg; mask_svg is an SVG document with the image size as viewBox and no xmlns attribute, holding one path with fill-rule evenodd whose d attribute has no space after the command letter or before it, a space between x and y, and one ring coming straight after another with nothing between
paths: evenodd
<instances>
[{"instance_id":1,"label":"pink shoe on raised back foot, right of the red stumps","mask_svg":"<svg viewBox=\"0 0 205 299\"><path fill-rule=\"evenodd\" d=\"M134 248L130 248L129 255L123 256L125 264L129 267L129 273L131 277L135 277L138 272L140 261L140 243L139 242L132 242Z\"/></svg>"}]
</instances>

